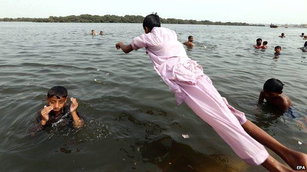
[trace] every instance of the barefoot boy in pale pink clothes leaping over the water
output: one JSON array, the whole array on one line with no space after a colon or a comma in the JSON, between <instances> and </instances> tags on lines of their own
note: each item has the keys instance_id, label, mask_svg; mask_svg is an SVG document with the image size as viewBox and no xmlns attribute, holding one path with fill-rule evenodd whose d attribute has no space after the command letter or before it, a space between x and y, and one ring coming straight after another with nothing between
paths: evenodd
<instances>
[{"instance_id":1,"label":"barefoot boy in pale pink clothes leaping over the water","mask_svg":"<svg viewBox=\"0 0 307 172\"><path fill-rule=\"evenodd\" d=\"M154 70L175 93L178 104L185 102L202 120L210 124L220 137L249 165L262 165L271 172L291 172L272 156L263 145L271 148L295 169L307 166L307 155L284 147L274 138L246 120L243 112L230 106L203 73L196 61L187 57L173 30L160 27L156 14L145 17L145 34L134 38L130 45L116 44L123 52L145 47ZM242 125L242 126L241 126ZM260 143L258 143L257 141Z\"/></svg>"}]
</instances>

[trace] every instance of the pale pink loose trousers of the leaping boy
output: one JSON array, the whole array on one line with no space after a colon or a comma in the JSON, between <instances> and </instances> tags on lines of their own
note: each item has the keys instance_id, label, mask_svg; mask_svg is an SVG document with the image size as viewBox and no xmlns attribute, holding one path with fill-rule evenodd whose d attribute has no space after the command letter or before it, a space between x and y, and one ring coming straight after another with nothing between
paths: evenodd
<instances>
[{"instance_id":1,"label":"pale pink loose trousers of the leaping boy","mask_svg":"<svg viewBox=\"0 0 307 172\"><path fill-rule=\"evenodd\" d=\"M176 82L185 93L185 103L249 165L260 165L268 157L267 150L249 136L241 126L246 122L243 112L230 106L204 75L196 85Z\"/></svg>"}]
</instances>

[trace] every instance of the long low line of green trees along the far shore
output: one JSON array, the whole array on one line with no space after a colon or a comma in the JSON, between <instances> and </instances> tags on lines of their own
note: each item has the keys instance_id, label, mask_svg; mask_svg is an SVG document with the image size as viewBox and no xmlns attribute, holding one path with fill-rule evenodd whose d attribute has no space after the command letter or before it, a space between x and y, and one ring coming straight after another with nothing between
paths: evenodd
<instances>
[{"instance_id":1,"label":"long low line of green trees along the far shore","mask_svg":"<svg viewBox=\"0 0 307 172\"><path fill-rule=\"evenodd\" d=\"M55 17L50 16L49 18L3 18L0 22L46 22L46 23L143 23L143 16L135 15L90 15L82 14L80 16L66 16L66 17ZM247 26L265 26L265 25L252 25L247 23L238 22L211 22L196 21L196 20L182 20L182 19L163 19L160 18L162 24L188 24L188 25L247 25Z\"/></svg>"}]
</instances>

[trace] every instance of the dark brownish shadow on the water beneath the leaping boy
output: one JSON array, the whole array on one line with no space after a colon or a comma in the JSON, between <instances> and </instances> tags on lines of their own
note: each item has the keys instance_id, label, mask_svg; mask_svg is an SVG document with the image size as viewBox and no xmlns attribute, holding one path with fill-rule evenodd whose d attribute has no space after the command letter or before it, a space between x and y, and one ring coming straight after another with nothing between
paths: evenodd
<instances>
[{"instance_id":1,"label":"dark brownish shadow on the water beneath the leaping boy","mask_svg":"<svg viewBox=\"0 0 307 172\"><path fill-rule=\"evenodd\" d=\"M162 135L150 142L137 143L143 163L152 163L162 172L239 172L239 164L215 148L206 147L210 154L193 150Z\"/></svg>"}]
</instances>

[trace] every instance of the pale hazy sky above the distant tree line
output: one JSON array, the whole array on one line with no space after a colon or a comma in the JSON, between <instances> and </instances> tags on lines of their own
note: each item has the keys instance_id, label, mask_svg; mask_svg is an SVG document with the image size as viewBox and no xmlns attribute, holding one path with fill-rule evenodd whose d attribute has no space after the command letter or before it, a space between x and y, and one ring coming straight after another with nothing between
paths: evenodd
<instances>
[{"instance_id":1,"label":"pale hazy sky above the distant tree line","mask_svg":"<svg viewBox=\"0 0 307 172\"><path fill-rule=\"evenodd\" d=\"M0 18L152 12L198 21L307 24L307 0L0 0Z\"/></svg>"}]
</instances>

